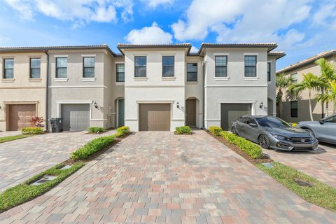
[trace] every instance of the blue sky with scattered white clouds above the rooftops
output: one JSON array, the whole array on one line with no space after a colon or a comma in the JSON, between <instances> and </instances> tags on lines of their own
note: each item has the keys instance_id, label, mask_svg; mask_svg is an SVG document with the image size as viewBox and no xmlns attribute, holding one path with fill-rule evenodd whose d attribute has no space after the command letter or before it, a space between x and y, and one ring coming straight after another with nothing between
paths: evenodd
<instances>
[{"instance_id":1,"label":"blue sky with scattered white clouds above the rooftops","mask_svg":"<svg viewBox=\"0 0 336 224\"><path fill-rule=\"evenodd\" d=\"M336 48L335 0L2 0L0 46L276 42L277 69Z\"/></svg>"}]
</instances>

